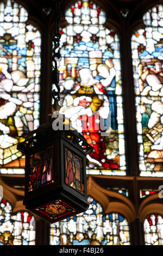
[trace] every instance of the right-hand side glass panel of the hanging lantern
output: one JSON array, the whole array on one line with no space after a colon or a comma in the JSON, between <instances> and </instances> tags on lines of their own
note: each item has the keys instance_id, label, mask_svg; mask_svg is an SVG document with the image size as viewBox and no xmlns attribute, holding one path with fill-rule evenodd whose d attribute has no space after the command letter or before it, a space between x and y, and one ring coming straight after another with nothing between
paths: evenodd
<instances>
[{"instance_id":1,"label":"right-hand side glass panel of the hanging lantern","mask_svg":"<svg viewBox=\"0 0 163 256\"><path fill-rule=\"evenodd\" d=\"M65 148L66 173L65 182L84 194L83 159L71 149Z\"/></svg>"}]
</instances>

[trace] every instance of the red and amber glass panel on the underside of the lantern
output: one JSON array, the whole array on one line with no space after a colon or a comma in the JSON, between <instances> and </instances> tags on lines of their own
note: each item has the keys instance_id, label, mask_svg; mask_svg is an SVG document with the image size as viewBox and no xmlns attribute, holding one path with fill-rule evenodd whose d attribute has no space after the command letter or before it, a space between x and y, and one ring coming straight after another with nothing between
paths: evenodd
<instances>
[{"instance_id":1,"label":"red and amber glass panel on the underside of the lantern","mask_svg":"<svg viewBox=\"0 0 163 256\"><path fill-rule=\"evenodd\" d=\"M70 205L65 203L62 200L55 200L49 204L42 205L38 208L35 208L40 215L46 216L51 220L57 220L58 218L62 218L65 216L76 212Z\"/></svg>"}]
</instances>

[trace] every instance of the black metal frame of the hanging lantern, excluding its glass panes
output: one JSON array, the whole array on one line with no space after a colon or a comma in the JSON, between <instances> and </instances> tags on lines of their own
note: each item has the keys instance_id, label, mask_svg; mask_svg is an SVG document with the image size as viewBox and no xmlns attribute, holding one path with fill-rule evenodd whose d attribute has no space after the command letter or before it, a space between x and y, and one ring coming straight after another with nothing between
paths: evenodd
<instances>
[{"instance_id":1,"label":"black metal frame of the hanging lantern, excluding its glass panes","mask_svg":"<svg viewBox=\"0 0 163 256\"><path fill-rule=\"evenodd\" d=\"M34 135L34 133L36 133L36 135ZM50 147L53 151L51 181L29 191L31 155ZM81 172L83 172L84 192L66 184L66 148L79 156L82 161L80 175ZM86 142L83 135L76 130L54 131L51 124L44 124L40 126L39 129L30 133L24 142L19 143L17 149L26 155L25 191L23 200L23 205L26 206L26 209L39 215L49 223L54 223L66 217L71 217L86 211L89 207L87 203L86 187L86 155L90 154L93 148ZM66 217L65 215L61 215L58 217L55 216L55 218L49 218L40 214L40 210L38 209L41 209L41 207L45 205L53 205L53 202L57 202L57 200L61 200L65 205L69 205L70 208L72 208L72 212L70 212L70 214L67 213Z\"/></svg>"}]
</instances>

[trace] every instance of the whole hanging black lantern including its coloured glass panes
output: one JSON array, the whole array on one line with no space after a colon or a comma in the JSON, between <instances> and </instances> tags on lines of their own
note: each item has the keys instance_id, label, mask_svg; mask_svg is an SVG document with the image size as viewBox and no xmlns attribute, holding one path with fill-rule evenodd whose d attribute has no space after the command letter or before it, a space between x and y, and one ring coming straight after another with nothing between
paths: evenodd
<instances>
[{"instance_id":1,"label":"whole hanging black lantern including its coloured glass panes","mask_svg":"<svg viewBox=\"0 0 163 256\"><path fill-rule=\"evenodd\" d=\"M82 135L44 124L17 149L26 155L26 209L54 223L88 208L85 169L92 147Z\"/></svg>"}]
</instances>

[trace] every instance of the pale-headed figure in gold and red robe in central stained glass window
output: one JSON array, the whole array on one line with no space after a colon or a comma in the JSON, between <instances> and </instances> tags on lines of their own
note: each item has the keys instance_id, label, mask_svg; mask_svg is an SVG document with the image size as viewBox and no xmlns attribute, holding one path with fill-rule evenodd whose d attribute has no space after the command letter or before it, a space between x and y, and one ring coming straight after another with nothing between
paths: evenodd
<instances>
[{"instance_id":1,"label":"pale-headed figure in gold and red robe in central stained glass window","mask_svg":"<svg viewBox=\"0 0 163 256\"><path fill-rule=\"evenodd\" d=\"M108 160L105 154L105 141L101 136L101 119L107 119L109 114L109 100L106 87L109 87L115 77L114 65L106 60L106 64L99 65L98 70L105 74L99 83L87 68L79 70L80 83L74 87L71 94L65 96L60 113L69 118L72 126L92 145L93 152L87 157L93 166L104 168L118 168L117 163ZM109 68L110 65L110 68ZM71 81L72 82L72 81ZM66 82L68 83L68 81ZM73 83L72 83L73 84ZM67 85L65 84L67 87Z\"/></svg>"}]
</instances>

